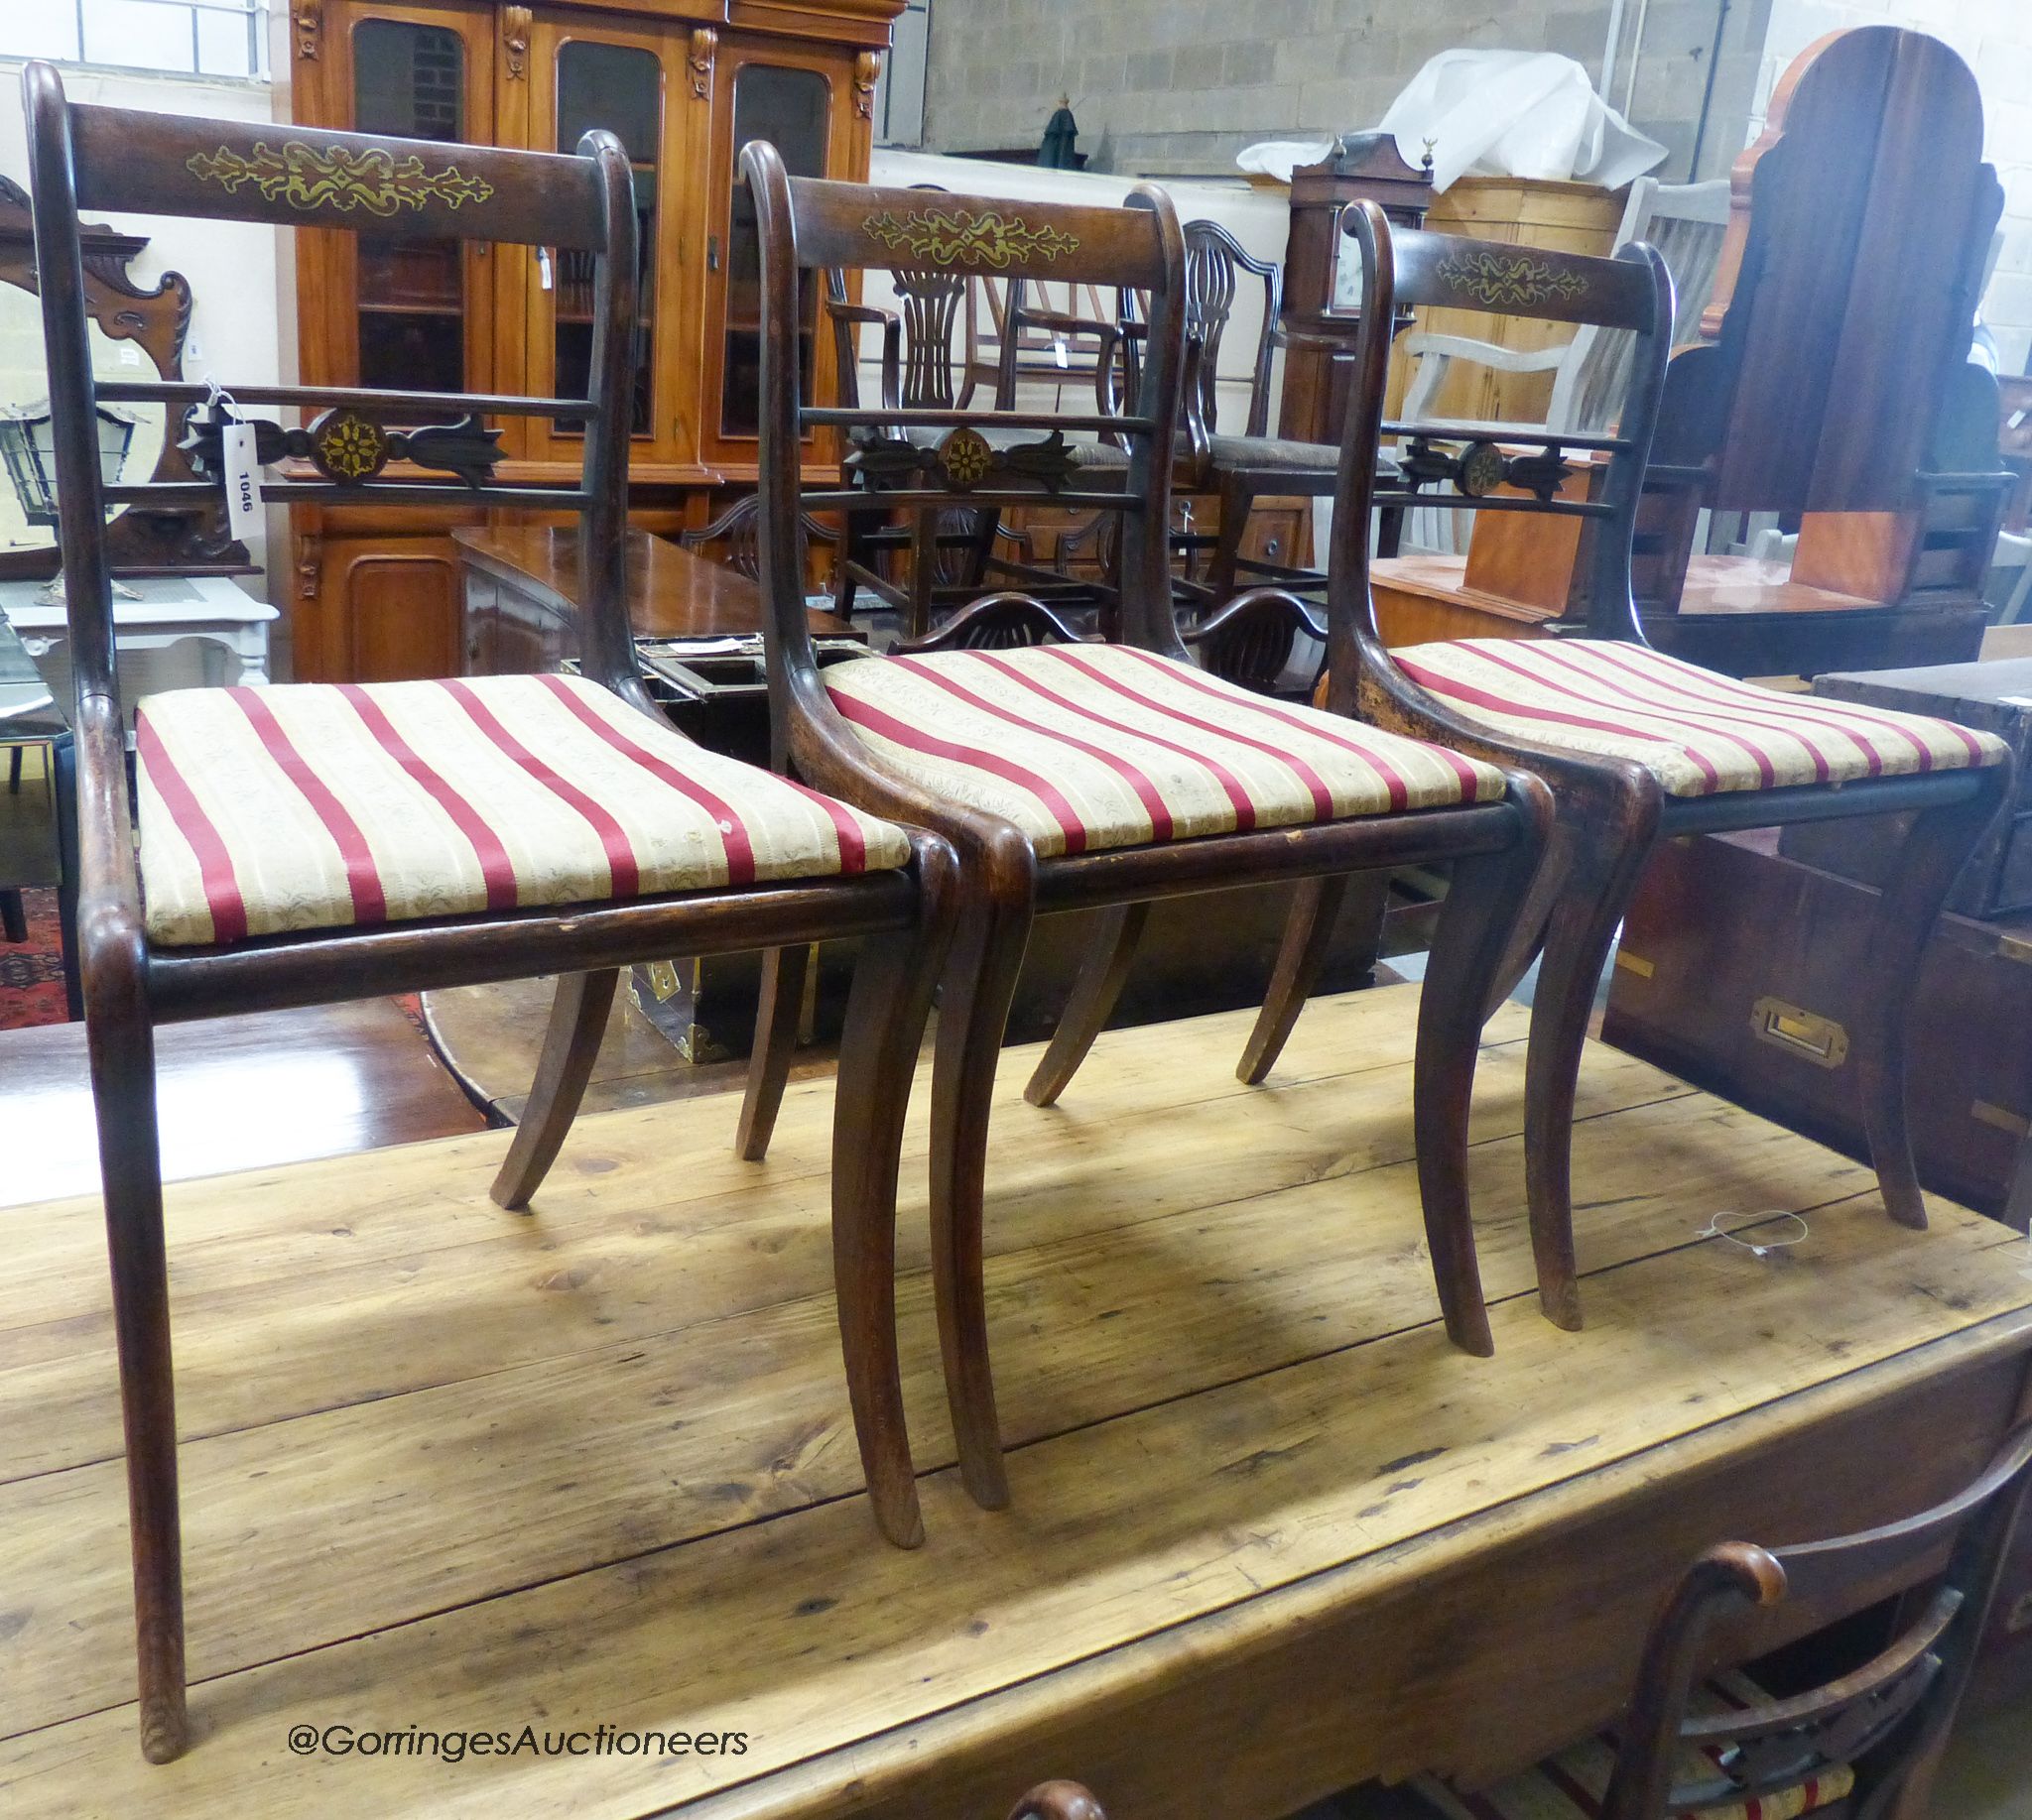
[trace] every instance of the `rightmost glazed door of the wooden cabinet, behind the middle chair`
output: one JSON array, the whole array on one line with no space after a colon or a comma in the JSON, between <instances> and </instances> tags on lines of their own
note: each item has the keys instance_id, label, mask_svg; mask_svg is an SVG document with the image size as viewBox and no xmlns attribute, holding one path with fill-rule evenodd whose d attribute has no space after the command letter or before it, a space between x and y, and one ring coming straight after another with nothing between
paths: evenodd
<instances>
[{"instance_id":1,"label":"rightmost glazed door of the wooden cabinet, behind the middle chair","mask_svg":"<svg viewBox=\"0 0 2032 1820\"><path fill-rule=\"evenodd\" d=\"M782 51L721 57L719 106L727 130L715 132L725 162L715 158L715 195L707 219L707 386L705 455L752 463L760 425L762 380L762 246L754 205L742 181L742 146L768 140L792 177L827 177L845 167L851 108L847 67ZM799 366L809 400L829 372L819 345L819 284L807 284L799 305Z\"/></svg>"}]
</instances>

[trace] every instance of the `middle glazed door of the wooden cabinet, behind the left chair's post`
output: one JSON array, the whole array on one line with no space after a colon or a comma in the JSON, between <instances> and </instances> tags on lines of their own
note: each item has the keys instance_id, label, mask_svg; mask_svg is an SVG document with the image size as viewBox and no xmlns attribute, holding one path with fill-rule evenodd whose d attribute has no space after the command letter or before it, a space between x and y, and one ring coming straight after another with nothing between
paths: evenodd
<instances>
[{"instance_id":1,"label":"middle glazed door of the wooden cabinet, behind the left chair's post","mask_svg":"<svg viewBox=\"0 0 2032 1820\"><path fill-rule=\"evenodd\" d=\"M664 347L666 301L660 297L658 228L664 221L666 61L677 55L664 32L585 28L541 20L530 45L530 142L575 152L591 128L612 132L634 167L640 270L634 321L634 382L626 400L636 461L675 457L675 410ZM528 286L528 386L538 396L583 398L591 384L593 256L571 248L532 254ZM528 453L577 461L583 427L569 418L530 425Z\"/></svg>"}]
</instances>

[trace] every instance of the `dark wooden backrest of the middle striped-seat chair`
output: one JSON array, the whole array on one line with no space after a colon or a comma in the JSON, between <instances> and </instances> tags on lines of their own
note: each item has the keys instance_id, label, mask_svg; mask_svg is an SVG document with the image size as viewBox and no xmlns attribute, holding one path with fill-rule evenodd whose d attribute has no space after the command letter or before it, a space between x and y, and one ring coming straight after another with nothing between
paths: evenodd
<instances>
[{"instance_id":1,"label":"dark wooden backrest of the middle striped-seat chair","mask_svg":"<svg viewBox=\"0 0 2032 1820\"><path fill-rule=\"evenodd\" d=\"M831 723L795 585L792 526L801 506L941 510L1053 504L1114 514L1122 522L1120 634L1126 642L1185 656L1170 609L1164 534L1185 347L1185 248L1168 199L1138 187L1128 207L1095 209L829 183L788 177L768 144L744 150L742 173L756 199L762 238L762 587L768 595L778 741L792 725L792 701L803 715ZM965 410L957 404L916 404L904 396L874 406L807 406L797 394L786 325L799 284L809 282L801 274L813 270L837 270L837 292L845 290L845 274L853 270L908 272L918 282L931 274L947 280L1004 278L1012 297L1020 297L1020 280L1030 278L1146 290L1150 319L1142 333L1138 394L1122 416L1093 410ZM795 447L803 431L819 425L851 435L847 469L855 479L839 492L801 500L795 463L772 459L772 451ZM945 439L937 451L927 451L923 437L912 441L896 435L900 431L943 431ZM1105 479L1089 473L1077 449L1063 441L1067 433L1109 435L1124 451L1122 465ZM1032 435L1036 441L1028 441ZM975 463L969 471L947 459L961 447ZM1006 615L1008 607L1000 601L998 615ZM986 626L988 620L981 620L983 636ZM1036 615L1026 630L1055 632Z\"/></svg>"}]
</instances>

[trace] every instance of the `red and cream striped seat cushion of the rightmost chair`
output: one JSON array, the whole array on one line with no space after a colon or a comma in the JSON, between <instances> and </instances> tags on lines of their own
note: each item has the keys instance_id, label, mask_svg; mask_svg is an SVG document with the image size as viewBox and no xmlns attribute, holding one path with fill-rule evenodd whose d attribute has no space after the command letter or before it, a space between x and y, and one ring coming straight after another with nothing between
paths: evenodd
<instances>
[{"instance_id":1,"label":"red and cream striped seat cushion of the rightmost chair","mask_svg":"<svg viewBox=\"0 0 2032 1820\"><path fill-rule=\"evenodd\" d=\"M1392 656L1491 733L1634 758L1668 796L1965 770L2006 752L1953 721L1780 695L1601 638L1465 638Z\"/></svg>"}]
</instances>

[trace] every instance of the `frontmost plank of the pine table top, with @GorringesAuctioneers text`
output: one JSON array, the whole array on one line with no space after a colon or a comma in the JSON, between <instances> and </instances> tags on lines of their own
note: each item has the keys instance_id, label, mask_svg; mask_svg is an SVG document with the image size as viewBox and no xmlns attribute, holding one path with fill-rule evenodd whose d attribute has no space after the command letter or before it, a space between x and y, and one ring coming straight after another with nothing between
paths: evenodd
<instances>
[{"instance_id":1,"label":"frontmost plank of the pine table top, with @GorringesAuctioneers text","mask_svg":"<svg viewBox=\"0 0 2032 1820\"><path fill-rule=\"evenodd\" d=\"M1585 1335L1548 1328L1526 1298L1506 1302L1494 1361L1463 1359L1424 1326L1053 1436L1012 1456L1004 1513L935 1475L916 1556L876 1546L860 1499L807 1507L228 1676L195 1700L211 1735L165 1769L132 1757L120 1708L22 1735L0 1747L0 1792L49 1812L89 1763L108 1810L163 1816L215 1812L228 1788L264 1814L644 1814L2032 1302L2032 1284L1999 1268L2008 1235L1973 1215L1941 1209L1939 1231L1914 1235L1865 1196L1845 1213L1825 1213L1782 1259L1707 1243L1603 1272ZM504 1483L502 1495L520 1493ZM396 1528L380 1523L390 1558L419 1540ZM315 1560L303 1560L299 1609L356 1595L354 1574L319 1586ZM299 1720L492 1731L524 1718L744 1731L750 1749L738 1765L538 1757L459 1773L412 1757L299 1763L282 1749Z\"/></svg>"}]
</instances>

